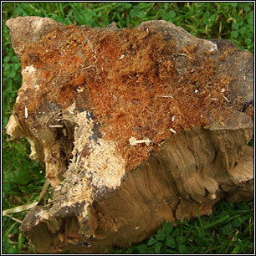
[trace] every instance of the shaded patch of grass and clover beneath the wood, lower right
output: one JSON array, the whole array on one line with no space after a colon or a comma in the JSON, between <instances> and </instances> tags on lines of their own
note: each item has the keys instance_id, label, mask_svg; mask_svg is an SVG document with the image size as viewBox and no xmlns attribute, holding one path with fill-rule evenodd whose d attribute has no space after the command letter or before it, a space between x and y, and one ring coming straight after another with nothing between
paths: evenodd
<instances>
[{"instance_id":1,"label":"shaded patch of grass and clover beneath the wood, lower right","mask_svg":"<svg viewBox=\"0 0 256 256\"><path fill-rule=\"evenodd\" d=\"M209 217L164 223L144 243L115 249L113 253L250 253L253 252L252 207L252 202L218 202Z\"/></svg>"}]
</instances>

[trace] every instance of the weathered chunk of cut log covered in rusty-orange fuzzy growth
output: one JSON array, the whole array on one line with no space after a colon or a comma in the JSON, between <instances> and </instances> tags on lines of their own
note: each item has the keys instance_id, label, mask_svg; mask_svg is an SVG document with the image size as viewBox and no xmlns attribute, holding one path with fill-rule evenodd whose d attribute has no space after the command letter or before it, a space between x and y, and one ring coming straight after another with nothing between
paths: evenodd
<instances>
[{"instance_id":1,"label":"weathered chunk of cut log covered in rusty-orange fuzzy growth","mask_svg":"<svg viewBox=\"0 0 256 256\"><path fill-rule=\"evenodd\" d=\"M21 230L39 253L97 253L253 198L253 54L165 21L7 22L22 62L7 133L54 187Z\"/></svg>"}]
</instances>

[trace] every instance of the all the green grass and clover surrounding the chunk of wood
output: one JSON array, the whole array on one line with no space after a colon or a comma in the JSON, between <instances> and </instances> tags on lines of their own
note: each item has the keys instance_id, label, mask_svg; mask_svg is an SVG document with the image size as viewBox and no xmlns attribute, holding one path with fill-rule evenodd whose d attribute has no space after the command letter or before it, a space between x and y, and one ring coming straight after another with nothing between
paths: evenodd
<instances>
[{"instance_id":1,"label":"all the green grass and clover surrounding the chunk of wood","mask_svg":"<svg viewBox=\"0 0 256 256\"><path fill-rule=\"evenodd\" d=\"M253 52L253 3L2 3L3 4L3 127L22 83L13 52L8 18L41 16L57 22L119 28L165 19L200 38L228 38ZM44 166L29 159L28 142L10 142L3 130L3 209L35 202L43 187ZM47 196L42 204L47 203ZM35 253L19 232L26 212L3 217L3 253ZM11 218L13 217L13 218ZM218 202L210 217L165 223L155 235L113 253L253 253L253 202Z\"/></svg>"}]
</instances>

